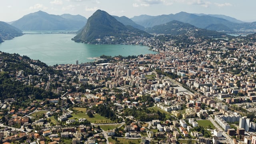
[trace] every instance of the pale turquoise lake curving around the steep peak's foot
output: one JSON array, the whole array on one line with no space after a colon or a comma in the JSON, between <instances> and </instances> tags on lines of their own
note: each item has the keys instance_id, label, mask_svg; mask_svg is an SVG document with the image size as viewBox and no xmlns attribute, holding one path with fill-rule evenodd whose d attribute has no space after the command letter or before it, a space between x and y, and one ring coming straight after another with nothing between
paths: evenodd
<instances>
[{"instance_id":1,"label":"pale turquoise lake curving around the steep peak's foot","mask_svg":"<svg viewBox=\"0 0 256 144\"><path fill-rule=\"evenodd\" d=\"M0 44L0 51L26 55L49 66L92 62L95 57L156 54L140 45L92 45L71 40L75 34L24 34Z\"/></svg>"}]
</instances>

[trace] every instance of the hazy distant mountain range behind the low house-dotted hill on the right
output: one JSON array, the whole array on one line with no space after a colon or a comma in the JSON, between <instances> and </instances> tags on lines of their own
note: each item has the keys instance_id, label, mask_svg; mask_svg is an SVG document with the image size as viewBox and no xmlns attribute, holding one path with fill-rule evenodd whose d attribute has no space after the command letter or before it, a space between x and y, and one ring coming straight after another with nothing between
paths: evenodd
<instances>
[{"instance_id":1,"label":"hazy distant mountain range behind the low house-dotted hill on the right","mask_svg":"<svg viewBox=\"0 0 256 144\"><path fill-rule=\"evenodd\" d=\"M236 31L236 30L252 30L256 29L256 22L242 22L224 15L207 15L207 14L189 14L186 12L179 12L177 14L168 14L160 16L134 16L131 18L137 24L146 28L153 27L160 24L166 24L172 20L178 20L192 24L198 28L204 28L215 31Z\"/></svg>"}]
</instances>

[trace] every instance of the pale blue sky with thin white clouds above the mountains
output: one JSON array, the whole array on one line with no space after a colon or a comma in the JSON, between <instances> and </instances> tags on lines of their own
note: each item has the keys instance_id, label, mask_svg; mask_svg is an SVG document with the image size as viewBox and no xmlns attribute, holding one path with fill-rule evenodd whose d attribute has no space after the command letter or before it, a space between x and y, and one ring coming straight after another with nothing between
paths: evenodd
<instances>
[{"instance_id":1,"label":"pale blue sky with thin white clouds above the mountains","mask_svg":"<svg viewBox=\"0 0 256 144\"><path fill-rule=\"evenodd\" d=\"M4 22L39 10L89 18L98 9L128 18L188 12L224 14L245 22L256 21L256 0L1 0L0 5L0 21Z\"/></svg>"}]
</instances>

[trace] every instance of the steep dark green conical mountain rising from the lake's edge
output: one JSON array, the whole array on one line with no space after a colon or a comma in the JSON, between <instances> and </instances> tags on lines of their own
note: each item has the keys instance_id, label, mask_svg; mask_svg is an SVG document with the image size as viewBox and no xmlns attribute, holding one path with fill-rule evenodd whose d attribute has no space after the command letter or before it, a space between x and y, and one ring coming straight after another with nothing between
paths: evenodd
<instances>
[{"instance_id":1,"label":"steep dark green conical mountain rising from the lake's edge","mask_svg":"<svg viewBox=\"0 0 256 144\"><path fill-rule=\"evenodd\" d=\"M133 36L151 36L147 32L124 26L121 22L110 16L107 12L97 10L88 18L86 25L72 40L76 42L100 43L111 41L113 43L125 42L125 39Z\"/></svg>"}]
</instances>

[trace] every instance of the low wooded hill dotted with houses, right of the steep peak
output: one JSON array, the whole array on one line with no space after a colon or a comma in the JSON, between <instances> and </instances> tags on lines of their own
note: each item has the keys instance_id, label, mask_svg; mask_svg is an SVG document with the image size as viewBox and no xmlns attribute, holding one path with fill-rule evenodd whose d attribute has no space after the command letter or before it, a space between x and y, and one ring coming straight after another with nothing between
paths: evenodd
<instances>
[{"instance_id":1,"label":"low wooded hill dotted with houses, right of the steep peak","mask_svg":"<svg viewBox=\"0 0 256 144\"><path fill-rule=\"evenodd\" d=\"M153 26L152 28L147 28L146 32L154 33L154 34L174 35L174 36L186 35L186 36L194 36L196 38L200 38L200 37L220 38L223 35L226 35L221 32L197 28L195 26L192 26L191 24L179 22L177 20L173 20L166 24Z\"/></svg>"}]
</instances>

